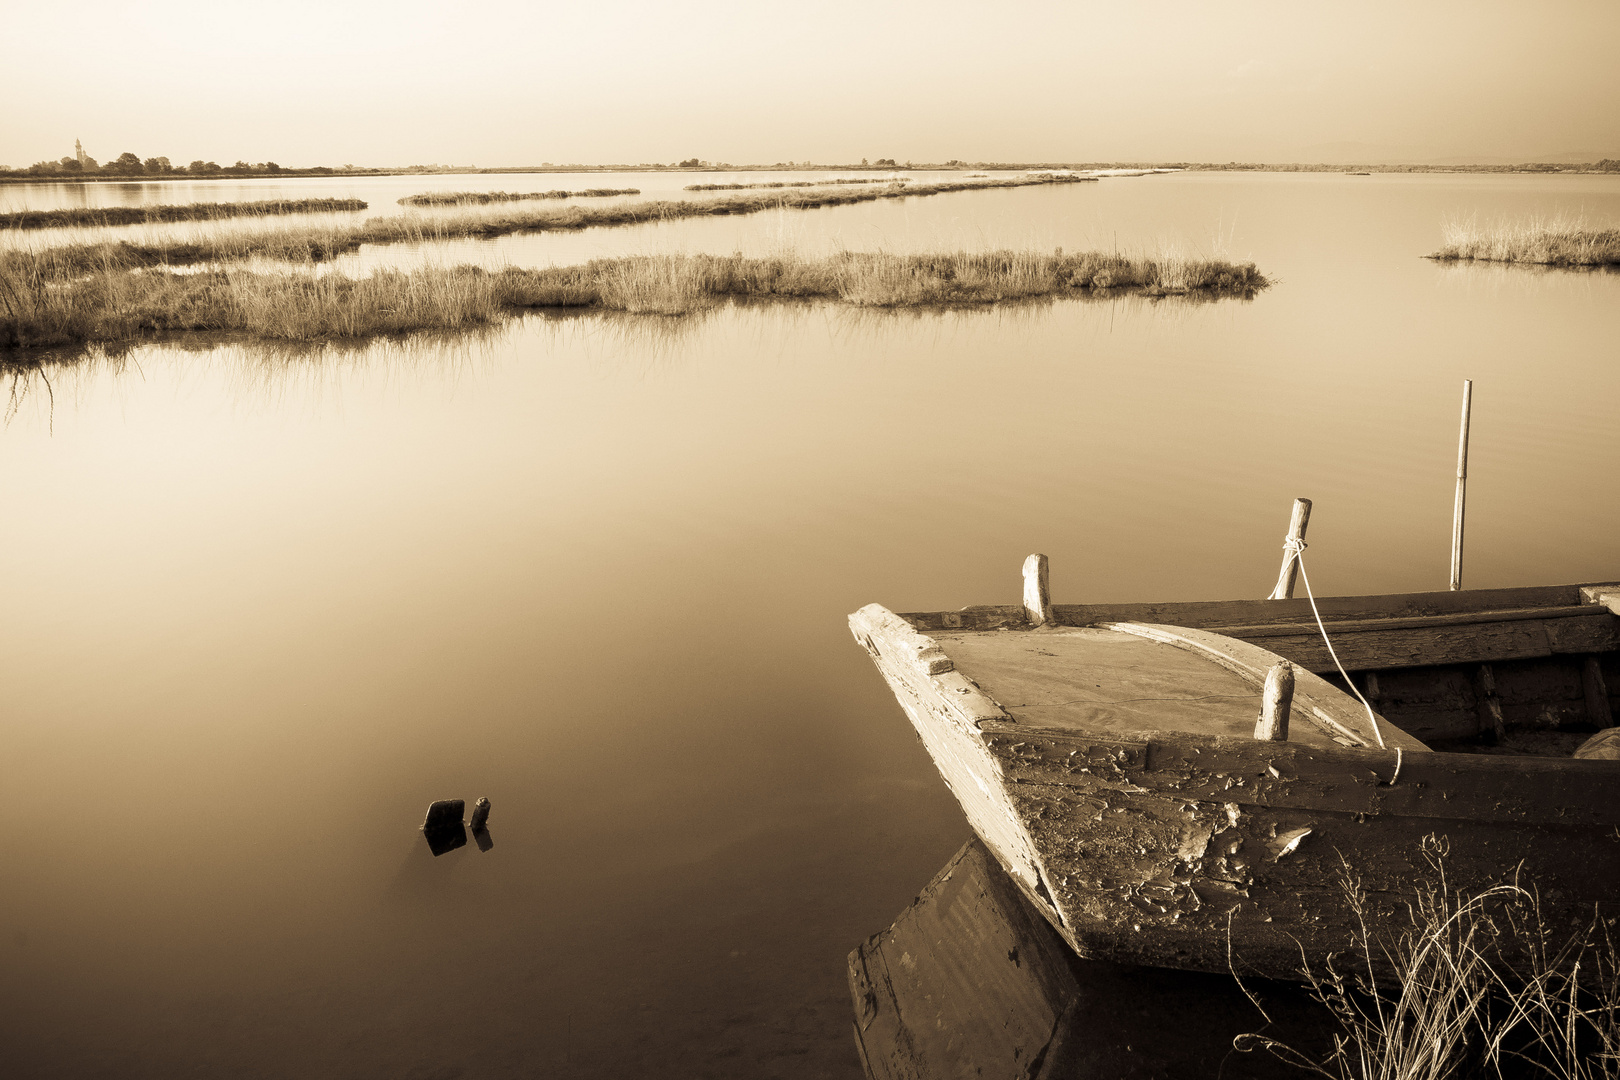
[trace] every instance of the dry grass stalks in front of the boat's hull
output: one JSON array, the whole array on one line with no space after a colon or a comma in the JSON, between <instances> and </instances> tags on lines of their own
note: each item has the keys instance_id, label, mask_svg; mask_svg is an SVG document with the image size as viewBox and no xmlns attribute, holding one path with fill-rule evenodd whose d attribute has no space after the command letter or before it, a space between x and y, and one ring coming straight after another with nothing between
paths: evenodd
<instances>
[{"instance_id":1,"label":"dry grass stalks in front of the boat's hull","mask_svg":"<svg viewBox=\"0 0 1620 1080\"><path fill-rule=\"evenodd\" d=\"M1304 968L1340 1027L1327 1057L1264 1035L1233 1046L1270 1051L1330 1080L1502 1077L1505 1064L1557 1080L1620 1080L1620 980L1607 925L1594 920L1549 949L1552 931L1531 891L1500 884L1463 895L1447 886L1445 853L1443 839L1426 837L1434 884L1393 936L1375 929L1383 920L1346 870L1343 887L1361 923L1354 955Z\"/></svg>"}]
</instances>

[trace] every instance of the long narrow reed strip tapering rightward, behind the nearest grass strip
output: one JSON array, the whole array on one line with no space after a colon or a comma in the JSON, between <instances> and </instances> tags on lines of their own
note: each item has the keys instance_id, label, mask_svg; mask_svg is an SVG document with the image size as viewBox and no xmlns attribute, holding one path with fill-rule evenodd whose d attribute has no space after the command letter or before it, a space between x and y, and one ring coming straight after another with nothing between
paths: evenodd
<instances>
[{"instance_id":1,"label":"long narrow reed strip tapering rightward, behind the nearest grass strip","mask_svg":"<svg viewBox=\"0 0 1620 1080\"><path fill-rule=\"evenodd\" d=\"M761 210L808 210L873 199L1025 188L1074 183L1081 176L1017 176L1009 180L953 180L927 185L839 186L771 194L737 194L723 199L646 199L609 206L557 206L510 210L476 217L444 217L423 222L415 215L369 217L364 222L330 222L296 228L267 228L240 233L204 233L191 238L151 241L76 241L49 248L57 266L81 274L117 266L198 266L267 257L287 262L324 262L358 251L364 244L424 243L439 240L492 240L514 233L561 232L642 225L648 222L758 214ZM36 253L44 254L44 253Z\"/></svg>"}]
</instances>

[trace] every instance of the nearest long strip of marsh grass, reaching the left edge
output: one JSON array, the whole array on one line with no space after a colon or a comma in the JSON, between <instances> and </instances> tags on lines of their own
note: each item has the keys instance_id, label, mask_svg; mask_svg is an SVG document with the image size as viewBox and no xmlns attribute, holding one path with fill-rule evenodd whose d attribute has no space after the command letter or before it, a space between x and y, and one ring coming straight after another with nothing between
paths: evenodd
<instances>
[{"instance_id":1,"label":"nearest long strip of marsh grass, reaching the left edge","mask_svg":"<svg viewBox=\"0 0 1620 1080\"><path fill-rule=\"evenodd\" d=\"M49 253L47 253L49 254ZM726 298L834 300L867 308L990 304L1042 296L1249 296L1254 264L1115 254L988 251L933 256L846 253L633 256L528 270L426 267L364 279L240 269L175 274L112 261L66 275L40 256L0 253L0 347L126 342L177 330L316 340L462 329L522 308L677 316Z\"/></svg>"}]
</instances>

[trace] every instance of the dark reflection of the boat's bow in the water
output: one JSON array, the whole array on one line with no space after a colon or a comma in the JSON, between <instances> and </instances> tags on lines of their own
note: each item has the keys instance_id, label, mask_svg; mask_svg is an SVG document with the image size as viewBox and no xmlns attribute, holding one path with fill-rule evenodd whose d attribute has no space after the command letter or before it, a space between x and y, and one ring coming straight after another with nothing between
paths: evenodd
<instances>
[{"instance_id":1,"label":"dark reflection of the boat's bow in the water","mask_svg":"<svg viewBox=\"0 0 1620 1080\"><path fill-rule=\"evenodd\" d=\"M870 1080L1298 1075L1233 1038L1317 1046L1325 1014L1299 988L1246 986L1265 1014L1225 975L1081 960L977 837L849 954Z\"/></svg>"}]
</instances>

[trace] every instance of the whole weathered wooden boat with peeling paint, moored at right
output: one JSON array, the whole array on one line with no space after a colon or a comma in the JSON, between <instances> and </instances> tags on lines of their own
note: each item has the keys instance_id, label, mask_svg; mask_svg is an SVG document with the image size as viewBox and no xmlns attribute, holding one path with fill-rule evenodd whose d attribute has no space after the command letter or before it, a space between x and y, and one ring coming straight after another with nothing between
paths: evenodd
<instances>
[{"instance_id":1,"label":"whole weathered wooden boat with peeling paint, moored at right","mask_svg":"<svg viewBox=\"0 0 1620 1080\"><path fill-rule=\"evenodd\" d=\"M1614 725L1620 585L1317 599L1346 683L1307 599L1045 581L1032 555L1022 606L849 622L1082 957L1298 978L1356 941L1346 876L1392 925L1437 853L1453 887L1534 886L1554 933L1620 900L1620 761L1567 756Z\"/></svg>"}]
</instances>

